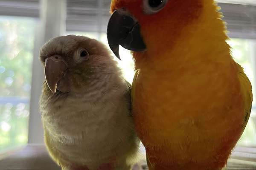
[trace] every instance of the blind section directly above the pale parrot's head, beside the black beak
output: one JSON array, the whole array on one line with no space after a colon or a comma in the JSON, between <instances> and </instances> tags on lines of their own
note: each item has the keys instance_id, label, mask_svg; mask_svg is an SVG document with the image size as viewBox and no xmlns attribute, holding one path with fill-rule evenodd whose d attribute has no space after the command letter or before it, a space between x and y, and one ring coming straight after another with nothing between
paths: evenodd
<instances>
[{"instance_id":1,"label":"blind section directly above the pale parrot's head, beside the black beak","mask_svg":"<svg viewBox=\"0 0 256 170\"><path fill-rule=\"evenodd\" d=\"M105 32L111 0L67 0L67 31Z\"/></svg>"}]
</instances>

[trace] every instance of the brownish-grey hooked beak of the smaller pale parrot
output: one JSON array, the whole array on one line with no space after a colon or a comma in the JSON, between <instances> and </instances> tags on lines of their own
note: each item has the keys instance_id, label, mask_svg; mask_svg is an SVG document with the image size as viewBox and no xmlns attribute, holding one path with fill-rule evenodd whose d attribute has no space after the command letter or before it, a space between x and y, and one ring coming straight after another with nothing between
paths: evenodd
<instances>
[{"instance_id":1,"label":"brownish-grey hooked beak of the smaller pale parrot","mask_svg":"<svg viewBox=\"0 0 256 170\"><path fill-rule=\"evenodd\" d=\"M58 89L57 84L59 84L60 80L64 77L66 71L67 63L61 56L54 55L45 60L44 75L47 85L52 93L56 93Z\"/></svg>"}]
</instances>

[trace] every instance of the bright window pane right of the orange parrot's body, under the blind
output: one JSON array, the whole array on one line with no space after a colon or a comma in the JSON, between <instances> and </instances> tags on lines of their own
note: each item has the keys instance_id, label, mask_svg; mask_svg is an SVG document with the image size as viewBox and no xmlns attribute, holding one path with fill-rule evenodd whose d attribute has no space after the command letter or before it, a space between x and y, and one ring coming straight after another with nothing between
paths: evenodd
<instances>
[{"instance_id":1,"label":"bright window pane right of the orange parrot's body, under the blind","mask_svg":"<svg viewBox=\"0 0 256 170\"><path fill-rule=\"evenodd\" d=\"M236 39L233 38L228 41L232 48L232 56L238 62L250 79L253 87L253 94L255 94L255 65L254 58L256 56L253 48L255 40ZM255 95L253 95L253 106L248 124L244 130L243 135L238 143L240 146L255 146L256 145L256 110L255 110Z\"/></svg>"}]
</instances>

